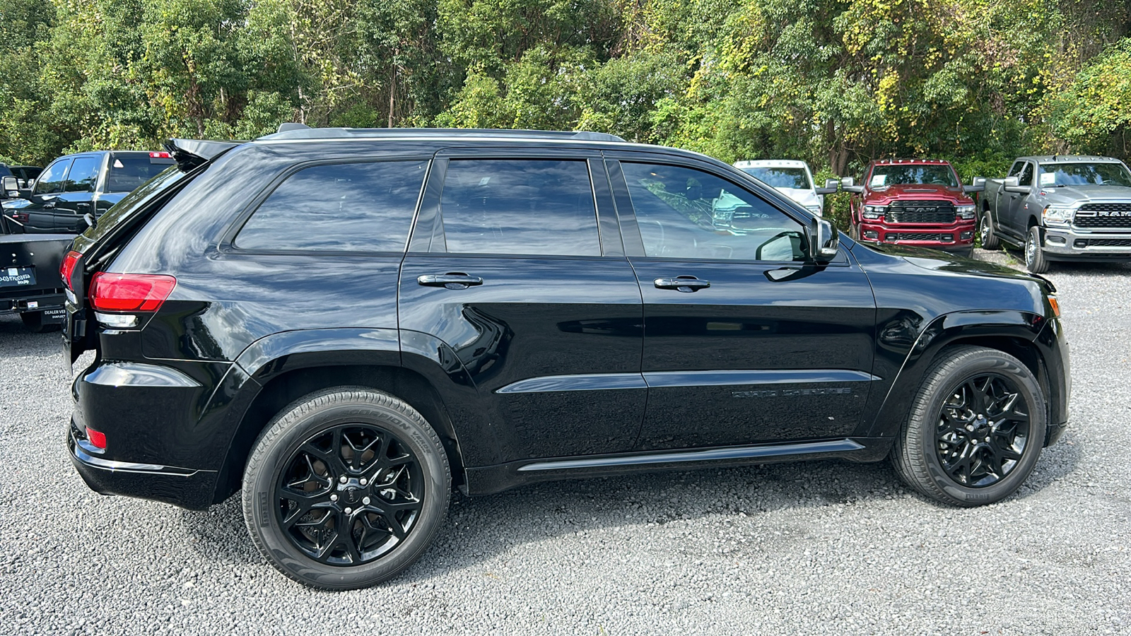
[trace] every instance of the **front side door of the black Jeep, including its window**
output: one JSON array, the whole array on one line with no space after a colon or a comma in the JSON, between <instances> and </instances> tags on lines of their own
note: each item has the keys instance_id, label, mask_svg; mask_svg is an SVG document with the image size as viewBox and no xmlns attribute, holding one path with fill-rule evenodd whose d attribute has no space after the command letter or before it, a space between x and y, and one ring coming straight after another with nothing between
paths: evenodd
<instances>
[{"instance_id":1,"label":"front side door of the black Jeep, including its window","mask_svg":"<svg viewBox=\"0 0 1131 636\"><path fill-rule=\"evenodd\" d=\"M875 301L847 250L806 265L804 215L768 192L691 163L615 158L644 298L640 449L853 435L877 379Z\"/></svg>"}]
</instances>

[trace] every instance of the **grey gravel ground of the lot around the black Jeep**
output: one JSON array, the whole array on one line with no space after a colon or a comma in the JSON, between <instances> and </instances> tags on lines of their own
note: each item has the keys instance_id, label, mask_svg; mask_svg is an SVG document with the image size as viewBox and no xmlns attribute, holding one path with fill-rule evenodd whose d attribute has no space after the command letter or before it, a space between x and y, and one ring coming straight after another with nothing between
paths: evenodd
<instances>
[{"instance_id":1,"label":"grey gravel ground of the lot around the black Jeep","mask_svg":"<svg viewBox=\"0 0 1131 636\"><path fill-rule=\"evenodd\" d=\"M0 317L0 633L1131 634L1131 266L1048 278L1071 428L1005 501L941 507L837 462L457 496L421 561L343 593L267 565L235 498L88 490L58 334Z\"/></svg>"}]
</instances>

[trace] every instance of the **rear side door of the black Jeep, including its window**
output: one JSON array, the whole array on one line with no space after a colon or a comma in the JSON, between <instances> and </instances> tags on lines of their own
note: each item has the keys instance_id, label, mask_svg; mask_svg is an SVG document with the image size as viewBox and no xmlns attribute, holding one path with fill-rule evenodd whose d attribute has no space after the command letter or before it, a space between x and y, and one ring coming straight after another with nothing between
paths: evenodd
<instances>
[{"instance_id":1,"label":"rear side door of the black Jeep, including its window","mask_svg":"<svg viewBox=\"0 0 1131 636\"><path fill-rule=\"evenodd\" d=\"M458 359L495 463L629 450L641 300L595 152L437 155L400 276L403 338ZM409 345L403 343L403 349Z\"/></svg>"}]
</instances>

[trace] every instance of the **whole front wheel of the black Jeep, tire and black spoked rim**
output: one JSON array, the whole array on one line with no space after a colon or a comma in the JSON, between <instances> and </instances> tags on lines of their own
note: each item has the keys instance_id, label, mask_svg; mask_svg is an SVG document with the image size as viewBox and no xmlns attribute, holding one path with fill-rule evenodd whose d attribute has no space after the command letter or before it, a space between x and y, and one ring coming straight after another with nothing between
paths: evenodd
<instances>
[{"instance_id":1,"label":"whole front wheel of the black Jeep, tire and black spoked rim","mask_svg":"<svg viewBox=\"0 0 1131 636\"><path fill-rule=\"evenodd\" d=\"M1033 472L1045 427L1044 395L1025 364L998 350L956 346L923 378L891 463L907 485L931 499L993 504L1017 492Z\"/></svg>"}]
</instances>

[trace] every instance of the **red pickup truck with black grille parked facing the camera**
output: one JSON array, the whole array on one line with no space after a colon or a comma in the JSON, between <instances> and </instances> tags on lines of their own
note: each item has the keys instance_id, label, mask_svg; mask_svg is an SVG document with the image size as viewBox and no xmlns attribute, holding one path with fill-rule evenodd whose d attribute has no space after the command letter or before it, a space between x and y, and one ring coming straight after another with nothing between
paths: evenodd
<instances>
[{"instance_id":1,"label":"red pickup truck with black grille parked facing the camera","mask_svg":"<svg viewBox=\"0 0 1131 636\"><path fill-rule=\"evenodd\" d=\"M968 195L985 189L975 177L962 186L942 160L880 160L867 164L864 182L843 180L854 192L849 235L857 241L903 243L969 255L977 207Z\"/></svg>"}]
</instances>

